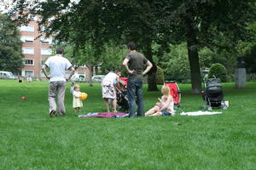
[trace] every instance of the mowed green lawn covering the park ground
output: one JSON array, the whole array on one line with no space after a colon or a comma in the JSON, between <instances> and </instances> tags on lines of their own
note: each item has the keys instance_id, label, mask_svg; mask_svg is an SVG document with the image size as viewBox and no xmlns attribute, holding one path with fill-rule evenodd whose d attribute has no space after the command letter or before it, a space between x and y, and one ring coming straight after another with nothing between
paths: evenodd
<instances>
[{"instance_id":1,"label":"mowed green lawn covering the park ground","mask_svg":"<svg viewBox=\"0 0 256 170\"><path fill-rule=\"evenodd\" d=\"M105 111L100 86L80 85L81 114ZM50 118L48 82L0 80L0 169L256 169L256 83L223 86L221 115L109 119L78 118L67 84L67 116ZM178 111L200 111L201 96L180 88ZM160 92L146 89L148 110Z\"/></svg>"}]
</instances>

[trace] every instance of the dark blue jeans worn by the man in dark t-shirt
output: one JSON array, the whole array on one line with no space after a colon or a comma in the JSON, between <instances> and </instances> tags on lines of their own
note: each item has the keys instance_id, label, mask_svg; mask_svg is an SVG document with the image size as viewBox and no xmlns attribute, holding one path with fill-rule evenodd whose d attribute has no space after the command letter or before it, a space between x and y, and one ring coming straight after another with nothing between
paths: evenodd
<instances>
[{"instance_id":1,"label":"dark blue jeans worn by the man in dark t-shirt","mask_svg":"<svg viewBox=\"0 0 256 170\"><path fill-rule=\"evenodd\" d=\"M143 80L138 78L129 78L127 84L127 97L129 104L129 117L135 116L137 106L137 116L144 116L143 101Z\"/></svg>"}]
</instances>

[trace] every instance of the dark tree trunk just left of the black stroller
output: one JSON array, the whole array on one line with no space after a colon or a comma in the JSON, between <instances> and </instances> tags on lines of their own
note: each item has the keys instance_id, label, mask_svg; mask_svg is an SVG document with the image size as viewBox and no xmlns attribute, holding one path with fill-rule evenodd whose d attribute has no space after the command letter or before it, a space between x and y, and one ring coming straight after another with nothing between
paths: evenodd
<instances>
[{"instance_id":1,"label":"dark tree trunk just left of the black stroller","mask_svg":"<svg viewBox=\"0 0 256 170\"><path fill-rule=\"evenodd\" d=\"M188 21L187 46L189 55L189 65L191 74L192 93L201 93L201 72L198 57L198 47L196 40L196 31L193 26L193 20Z\"/></svg>"}]
</instances>

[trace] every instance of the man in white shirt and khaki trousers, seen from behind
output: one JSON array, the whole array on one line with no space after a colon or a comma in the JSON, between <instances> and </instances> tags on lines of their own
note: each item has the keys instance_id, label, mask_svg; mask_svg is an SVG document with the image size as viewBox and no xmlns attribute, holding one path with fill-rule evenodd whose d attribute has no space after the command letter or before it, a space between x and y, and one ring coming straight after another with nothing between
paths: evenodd
<instances>
[{"instance_id":1,"label":"man in white shirt and khaki trousers, seen from behind","mask_svg":"<svg viewBox=\"0 0 256 170\"><path fill-rule=\"evenodd\" d=\"M56 55L49 57L42 66L45 77L49 79L49 116L55 116L55 111L57 110L55 102L56 94L58 94L57 104L59 115L63 116L66 112L64 105L66 82L73 76L75 70L68 59L62 56L63 54L64 48L57 48ZM50 77L45 70L46 67L49 68ZM72 71L69 77L66 77L67 70Z\"/></svg>"}]
</instances>

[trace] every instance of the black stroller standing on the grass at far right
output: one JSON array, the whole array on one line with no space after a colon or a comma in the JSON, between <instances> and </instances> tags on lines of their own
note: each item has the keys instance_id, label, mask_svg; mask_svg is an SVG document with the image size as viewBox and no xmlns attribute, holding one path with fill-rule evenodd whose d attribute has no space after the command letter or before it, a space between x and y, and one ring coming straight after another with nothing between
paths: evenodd
<instances>
[{"instance_id":1,"label":"black stroller standing on the grass at far right","mask_svg":"<svg viewBox=\"0 0 256 170\"><path fill-rule=\"evenodd\" d=\"M207 102L205 110L211 111L212 107L218 107L219 109L227 109L224 104L224 93L219 78L205 77L205 91L202 91L202 98Z\"/></svg>"}]
</instances>

